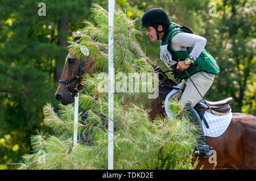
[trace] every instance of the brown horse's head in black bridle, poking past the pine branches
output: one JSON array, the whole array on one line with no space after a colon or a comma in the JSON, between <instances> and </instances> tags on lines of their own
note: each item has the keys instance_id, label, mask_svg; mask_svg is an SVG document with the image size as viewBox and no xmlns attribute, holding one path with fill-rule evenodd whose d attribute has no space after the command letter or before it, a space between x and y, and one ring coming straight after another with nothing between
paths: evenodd
<instances>
[{"instance_id":1,"label":"brown horse's head in black bridle, poking past the pine branches","mask_svg":"<svg viewBox=\"0 0 256 181\"><path fill-rule=\"evenodd\" d=\"M73 41L77 41L80 37L75 36L72 32ZM59 86L55 93L55 98L63 105L71 104L74 102L74 96L82 89L81 84L82 74L92 73L92 65L94 61L90 56L86 60L81 61L77 59L71 51L69 51L64 68L59 81Z\"/></svg>"}]
</instances>

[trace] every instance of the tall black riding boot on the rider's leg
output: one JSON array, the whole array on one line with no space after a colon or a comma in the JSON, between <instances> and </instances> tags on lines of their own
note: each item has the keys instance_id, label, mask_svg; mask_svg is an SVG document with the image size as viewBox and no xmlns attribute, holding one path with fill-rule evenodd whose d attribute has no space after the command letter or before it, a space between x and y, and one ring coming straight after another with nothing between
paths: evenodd
<instances>
[{"instance_id":1,"label":"tall black riding boot on the rider's leg","mask_svg":"<svg viewBox=\"0 0 256 181\"><path fill-rule=\"evenodd\" d=\"M210 156L210 146L208 145L208 142L204 136L204 130L201 124L201 117L193 108L191 103L187 103L185 105L185 109L188 111L190 120L193 124L196 125L200 134L200 145L195 148L195 153L199 154L200 157L207 158Z\"/></svg>"}]
</instances>

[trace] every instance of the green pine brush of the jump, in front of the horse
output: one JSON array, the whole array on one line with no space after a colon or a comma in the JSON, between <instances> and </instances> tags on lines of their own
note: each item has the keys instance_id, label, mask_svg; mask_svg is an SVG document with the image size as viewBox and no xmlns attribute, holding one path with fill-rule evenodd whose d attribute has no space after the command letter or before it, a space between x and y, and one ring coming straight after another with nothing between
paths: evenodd
<instances>
[{"instance_id":1,"label":"green pine brush of the jump, in front of the horse","mask_svg":"<svg viewBox=\"0 0 256 181\"><path fill-rule=\"evenodd\" d=\"M108 41L108 12L98 5L93 5L92 12L98 23L86 22L79 33L80 43L72 43L70 48L77 57L81 57L80 46L86 45L96 60L94 66L106 70L104 60L108 47L104 44ZM133 21L119 9L115 14L115 23L121 27L115 28L115 73L121 70L123 73L152 71L136 43L134 35L138 32ZM97 53L97 48L103 53ZM80 107L88 110L89 119L88 123L79 124L79 132L84 131L86 136L93 138L90 144L73 145L73 105L60 106L57 114L47 104L43 109L44 124L55 134L33 136L34 153L24 155L19 169L107 169L108 94L97 90L98 74L85 75L86 87L80 96ZM171 120L158 117L152 121L146 105L147 94L137 94L120 92L114 95L114 169L194 169L196 163L192 164L191 150L195 146L195 130L189 126L186 114ZM106 117L105 122L95 111Z\"/></svg>"}]
</instances>

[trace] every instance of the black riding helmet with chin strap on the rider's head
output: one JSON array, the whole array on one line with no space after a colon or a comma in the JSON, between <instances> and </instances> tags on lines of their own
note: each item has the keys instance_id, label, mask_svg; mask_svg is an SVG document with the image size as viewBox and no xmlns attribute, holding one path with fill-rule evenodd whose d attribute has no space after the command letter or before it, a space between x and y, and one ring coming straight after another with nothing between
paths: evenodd
<instances>
[{"instance_id":1,"label":"black riding helmet with chin strap on the rider's head","mask_svg":"<svg viewBox=\"0 0 256 181\"><path fill-rule=\"evenodd\" d=\"M159 40L159 33L164 32L166 28L164 28L162 31L158 31L158 26L156 24L166 24L167 26L171 24L166 12L160 8L150 9L145 12L145 14L142 16L142 24L139 29L147 26L154 27Z\"/></svg>"}]
</instances>

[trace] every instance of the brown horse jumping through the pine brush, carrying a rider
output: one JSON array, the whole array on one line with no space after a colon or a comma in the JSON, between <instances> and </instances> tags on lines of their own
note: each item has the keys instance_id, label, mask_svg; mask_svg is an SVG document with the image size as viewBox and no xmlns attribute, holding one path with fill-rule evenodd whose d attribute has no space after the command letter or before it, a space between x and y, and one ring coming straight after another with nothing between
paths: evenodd
<instances>
[{"instance_id":1,"label":"brown horse jumping through the pine brush, carrying a rider","mask_svg":"<svg viewBox=\"0 0 256 181\"><path fill-rule=\"evenodd\" d=\"M77 41L75 33L72 32L73 41ZM94 64L92 57L86 57L85 62L78 60L69 51L61 80L55 98L62 104L67 105L74 102L74 96L81 89L81 77L83 73L93 73L95 70L90 68ZM159 80L166 75L159 74ZM64 81L63 81L64 80ZM68 80L68 81L67 81ZM149 115L152 120L158 114L165 112L162 107L168 93L172 90L170 87L176 86L177 83L172 79L166 79L159 85L159 96L151 99L151 111ZM208 144L216 151L216 165L209 162L209 159L199 157L197 168L200 169L256 169L256 116L246 113L233 113L232 120L226 131L218 137L206 136Z\"/></svg>"}]
</instances>

